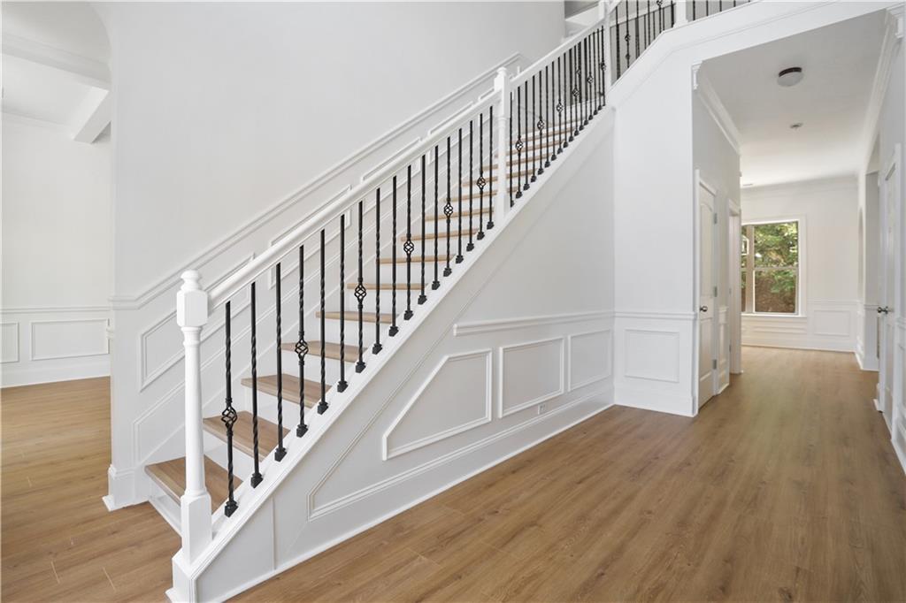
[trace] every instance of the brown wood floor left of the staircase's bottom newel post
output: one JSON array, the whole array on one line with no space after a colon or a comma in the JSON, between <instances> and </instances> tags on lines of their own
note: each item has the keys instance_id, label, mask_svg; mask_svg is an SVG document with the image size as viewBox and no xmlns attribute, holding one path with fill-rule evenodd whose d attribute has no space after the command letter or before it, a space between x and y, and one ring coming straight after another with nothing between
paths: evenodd
<instances>
[{"instance_id":1,"label":"brown wood floor left of the staircase's bottom newel post","mask_svg":"<svg viewBox=\"0 0 906 603\"><path fill-rule=\"evenodd\" d=\"M4 601L163 601L179 538L149 503L108 512L110 380L0 392Z\"/></svg>"}]
</instances>

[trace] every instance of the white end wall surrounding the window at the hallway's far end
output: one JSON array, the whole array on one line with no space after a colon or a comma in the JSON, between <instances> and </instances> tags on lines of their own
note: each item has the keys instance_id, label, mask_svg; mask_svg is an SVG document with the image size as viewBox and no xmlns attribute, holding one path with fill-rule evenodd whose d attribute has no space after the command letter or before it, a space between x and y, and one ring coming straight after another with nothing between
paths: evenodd
<instances>
[{"instance_id":1,"label":"white end wall surrounding the window at the hallway's far end","mask_svg":"<svg viewBox=\"0 0 906 603\"><path fill-rule=\"evenodd\" d=\"M855 177L744 188L743 224L800 219L798 316L744 314L743 344L854 351L859 191Z\"/></svg>"}]
</instances>

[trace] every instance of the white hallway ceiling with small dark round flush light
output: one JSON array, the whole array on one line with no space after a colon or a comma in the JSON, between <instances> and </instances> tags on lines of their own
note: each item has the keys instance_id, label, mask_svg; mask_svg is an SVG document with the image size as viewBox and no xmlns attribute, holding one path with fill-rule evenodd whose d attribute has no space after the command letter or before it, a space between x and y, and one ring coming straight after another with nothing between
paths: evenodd
<instances>
[{"instance_id":1,"label":"white hallway ceiling with small dark round flush light","mask_svg":"<svg viewBox=\"0 0 906 603\"><path fill-rule=\"evenodd\" d=\"M883 25L883 12L868 14L702 64L739 132L744 185L856 173ZM786 67L805 77L778 85Z\"/></svg>"}]
</instances>

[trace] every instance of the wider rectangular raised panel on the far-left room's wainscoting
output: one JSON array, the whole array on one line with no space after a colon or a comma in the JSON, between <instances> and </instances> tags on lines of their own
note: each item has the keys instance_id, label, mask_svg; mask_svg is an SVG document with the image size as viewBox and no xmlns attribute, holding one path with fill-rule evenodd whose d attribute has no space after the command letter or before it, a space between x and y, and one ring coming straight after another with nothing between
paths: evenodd
<instances>
[{"instance_id":1,"label":"wider rectangular raised panel on the far-left room's wainscoting","mask_svg":"<svg viewBox=\"0 0 906 603\"><path fill-rule=\"evenodd\" d=\"M33 360L102 356L107 344L107 319L32 322Z\"/></svg>"}]
</instances>

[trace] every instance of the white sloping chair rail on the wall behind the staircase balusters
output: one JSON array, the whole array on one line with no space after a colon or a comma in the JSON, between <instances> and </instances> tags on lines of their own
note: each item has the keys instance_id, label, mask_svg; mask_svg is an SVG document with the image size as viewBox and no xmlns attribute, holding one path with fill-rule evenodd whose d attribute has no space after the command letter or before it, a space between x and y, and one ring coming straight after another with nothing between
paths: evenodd
<instances>
[{"instance_id":1,"label":"white sloping chair rail on the wall behind the staircase balusters","mask_svg":"<svg viewBox=\"0 0 906 603\"><path fill-rule=\"evenodd\" d=\"M328 184L331 179L338 177L343 171L352 168L352 166L359 163L364 158L367 158L369 155L371 155L371 153L374 153L380 148L389 144L391 140L399 137L403 132L406 131L406 129L410 129L419 121L428 119L429 116L447 107L452 102L457 101L459 97L464 95L467 91L475 88L481 81L490 80L491 78L493 78L496 75L498 68L506 67L513 62L519 61L522 58L522 54L514 53L507 57L504 61L497 62L493 67L486 70L485 72L482 72L476 78L467 81L457 90L450 92L448 95L430 105L425 110L421 110L419 111L419 113L413 115L409 120L403 121L399 125L388 130L377 139L372 140L364 147L355 151L354 153L352 153L352 155L342 159L332 167L327 168L320 175L313 177L292 195L285 197L282 201L279 201L275 205L265 209L265 211L256 215L252 220L236 229L236 231L225 236L216 244L210 245L206 250L191 258L187 263L184 263L177 270L172 271L167 276L160 278L155 284L151 285L144 292L140 292L134 295L118 294L112 296L110 299L111 306L116 310L136 310L145 306L151 300L155 299L161 294L168 292L169 289L177 286L180 282L179 274L183 273L188 268L198 268L198 266L203 266L204 264L209 263L218 255L226 252L227 249L233 247L240 239L244 239L248 235L251 235L271 220L274 220L278 215L289 209L291 206L294 206L296 203L301 201L304 197L311 195L313 192ZM320 211L322 211L325 206L329 206L330 204L331 201L328 200L323 204L315 207L313 211L304 216L302 222L310 220L314 215L317 215Z\"/></svg>"}]
</instances>

